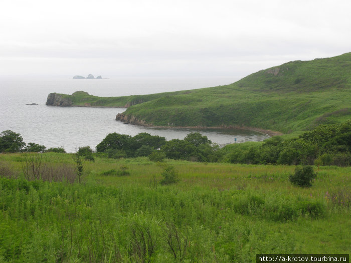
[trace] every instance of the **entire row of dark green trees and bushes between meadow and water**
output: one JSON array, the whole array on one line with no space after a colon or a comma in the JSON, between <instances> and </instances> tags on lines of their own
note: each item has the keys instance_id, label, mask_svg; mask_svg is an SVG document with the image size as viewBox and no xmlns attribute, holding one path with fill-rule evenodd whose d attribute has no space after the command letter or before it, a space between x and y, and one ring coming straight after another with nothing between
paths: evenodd
<instances>
[{"instance_id":1,"label":"entire row of dark green trees and bushes between meadow and water","mask_svg":"<svg viewBox=\"0 0 351 263\"><path fill-rule=\"evenodd\" d=\"M0 152L65 152L63 148L46 149L36 143L25 144L22 136L7 130L0 133ZM78 153L93 160L89 146ZM263 143L241 143L220 149L199 132L183 140L167 141L164 137L139 133L135 136L110 133L97 146L96 155L108 158L148 156L199 162L231 162L245 164L338 165L351 164L351 120L341 124L320 125L297 138L271 137Z\"/></svg>"}]
</instances>

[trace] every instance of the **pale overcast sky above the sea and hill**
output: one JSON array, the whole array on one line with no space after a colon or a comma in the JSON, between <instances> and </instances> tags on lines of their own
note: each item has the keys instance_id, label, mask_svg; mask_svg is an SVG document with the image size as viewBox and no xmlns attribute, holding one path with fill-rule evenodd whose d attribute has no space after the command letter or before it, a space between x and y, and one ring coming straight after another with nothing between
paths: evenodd
<instances>
[{"instance_id":1,"label":"pale overcast sky above the sea and hill","mask_svg":"<svg viewBox=\"0 0 351 263\"><path fill-rule=\"evenodd\" d=\"M351 51L350 0L2 0L0 75L238 76Z\"/></svg>"}]
</instances>

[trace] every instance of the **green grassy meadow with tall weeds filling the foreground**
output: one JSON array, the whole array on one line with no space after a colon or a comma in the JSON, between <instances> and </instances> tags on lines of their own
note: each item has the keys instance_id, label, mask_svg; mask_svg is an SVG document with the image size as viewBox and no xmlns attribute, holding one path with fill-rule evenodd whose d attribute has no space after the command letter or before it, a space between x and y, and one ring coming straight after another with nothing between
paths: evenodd
<instances>
[{"instance_id":1,"label":"green grassy meadow with tall weeds filling the foreground","mask_svg":"<svg viewBox=\"0 0 351 263\"><path fill-rule=\"evenodd\" d=\"M288 180L295 166L96 155L78 183L73 154L41 156L42 180L26 180L26 154L0 154L0 261L254 262L351 250L350 167L315 166L313 186L301 188ZM180 180L161 185L169 166Z\"/></svg>"}]
</instances>

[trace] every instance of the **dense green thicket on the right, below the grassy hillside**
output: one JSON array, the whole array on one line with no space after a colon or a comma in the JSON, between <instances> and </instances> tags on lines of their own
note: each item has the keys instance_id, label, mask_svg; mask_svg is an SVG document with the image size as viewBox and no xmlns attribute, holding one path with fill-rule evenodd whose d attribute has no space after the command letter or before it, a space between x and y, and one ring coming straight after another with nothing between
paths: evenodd
<instances>
[{"instance_id":1,"label":"dense green thicket on the right, below the grassy hillside","mask_svg":"<svg viewBox=\"0 0 351 263\"><path fill-rule=\"evenodd\" d=\"M337 165L351 164L351 120L320 125L298 138L275 136L262 144L228 145L222 160L246 164Z\"/></svg>"}]
</instances>

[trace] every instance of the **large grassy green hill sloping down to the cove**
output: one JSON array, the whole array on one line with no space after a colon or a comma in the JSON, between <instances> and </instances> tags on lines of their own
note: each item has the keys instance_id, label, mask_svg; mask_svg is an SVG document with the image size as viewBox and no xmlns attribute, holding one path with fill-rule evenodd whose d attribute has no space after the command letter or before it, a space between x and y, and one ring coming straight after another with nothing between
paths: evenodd
<instances>
[{"instance_id":1,"label":"large grassy green hill sloping down to the cove","mask_svg":"<svg viewBox=\"0 0 351 263\"><path fill-rule=\"evenodd\" d=\"M136 124L236 126L289 133L348 120L350 92L351 53L346 53L333 58L288 62L230 85L118 97L113 100L119 105L106 103L105 106L130 106L117 119Z\"/></svg>"}]
</instances>

